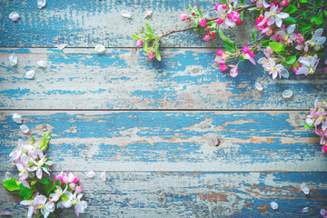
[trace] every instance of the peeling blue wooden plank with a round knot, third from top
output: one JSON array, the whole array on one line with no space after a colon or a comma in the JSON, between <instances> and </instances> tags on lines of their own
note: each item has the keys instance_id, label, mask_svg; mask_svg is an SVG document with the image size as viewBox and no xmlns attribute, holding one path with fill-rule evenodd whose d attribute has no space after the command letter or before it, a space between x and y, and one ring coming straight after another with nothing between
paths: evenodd
<instances>
[{"instance_id":1,"label":"peeling blue wooden plank with a round knot, third from top","mask_svg":"<svg viewBox=\"0 0 327 218\"><path fill-rule=\"evenodd\" d=\"M2 111L0 161L27 141L14 111ZM326 172L319 137L304 130L306 112L19 111L31 135L65 170ZM218 144L220 138L221 144Z\"/></svg>"}]
</instances>

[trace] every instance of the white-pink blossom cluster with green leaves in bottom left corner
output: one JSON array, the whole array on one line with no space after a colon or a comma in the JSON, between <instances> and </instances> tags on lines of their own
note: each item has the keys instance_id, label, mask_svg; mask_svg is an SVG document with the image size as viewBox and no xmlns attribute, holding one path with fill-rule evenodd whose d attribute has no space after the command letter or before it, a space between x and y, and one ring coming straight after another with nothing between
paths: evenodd
<instances>
[{"instance_id":1,"label":"white-pink blossom cluster with green leaves in bottom left corner","mask_svg":"<svg viewBox=\"0 0 327 218\"><path fill-rule=\"evenodd\" d=\"M76 175L62 172L54 176L54 181L50 179L50 166L54 162L44 154L50 138L50 134L45 133L41 144L35 144L34 138L29 144L18 140L17 147L9 154L10 161L19 171L19 179L6 173L3 185L8 191L18 193L22 200L20 204L28 207L27 218L34 215L47 218L72 206L79 216L87 207L81 199L83 188Z\"/></svg>"}]
</instances>

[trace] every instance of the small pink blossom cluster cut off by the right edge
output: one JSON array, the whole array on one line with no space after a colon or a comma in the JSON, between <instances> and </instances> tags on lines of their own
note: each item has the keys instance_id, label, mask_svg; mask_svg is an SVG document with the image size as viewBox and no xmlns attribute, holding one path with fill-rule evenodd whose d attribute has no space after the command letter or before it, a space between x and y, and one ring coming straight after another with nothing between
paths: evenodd
<instances>
[{"instance_id":1,"label":"small pink blossom cluster cut off by the right edge","mask_svg":"<svg viewBox=\"0 0 327 218\"><path fill-rule=\"evenodd\" d=\"M312 108L310 115L306 118L306 123L309 127L315 129L315 133L321 136L322 152L327 153L327 103L316 100L314 108Z\"/></svg>"}]
</instances>

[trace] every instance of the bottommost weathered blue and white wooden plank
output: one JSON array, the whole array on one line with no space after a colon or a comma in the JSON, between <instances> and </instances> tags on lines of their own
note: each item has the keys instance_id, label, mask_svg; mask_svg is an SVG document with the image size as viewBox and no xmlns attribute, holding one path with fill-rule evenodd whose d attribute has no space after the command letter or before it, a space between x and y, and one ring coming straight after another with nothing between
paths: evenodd
<instances>
[{"instance_id":1,"label":"bottommost weathered blue and white wooden plank","mask_svg":"<svg viewBox=\"0 0 327 218\"><path fill-rule=\"evenodd\" d=\"M77 175L89 202L81 217L321 217L327 203L327 173L107 173L106 182ZM309 185L310 195L302 193L301 183ZM0 210L23 217L18 199L3 187L0 193ZM301 213L305 206L310 213Z\"/></svg>"}]
</instances>

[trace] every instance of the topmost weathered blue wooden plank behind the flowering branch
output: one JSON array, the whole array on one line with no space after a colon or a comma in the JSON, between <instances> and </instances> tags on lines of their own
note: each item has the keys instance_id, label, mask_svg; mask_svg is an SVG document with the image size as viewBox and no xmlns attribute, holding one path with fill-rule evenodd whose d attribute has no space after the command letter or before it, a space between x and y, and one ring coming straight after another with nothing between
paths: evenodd
<instances>
[{"instance_id":1,"label":"topmost weathered blue wooden plank behind the flowering branch","mask_svg":"<svg viewBox=\"0 0 327 218\"><path fill-rule=\"evenodd\" d=\"M109 47L134 47L133 34L144 30L144 14L154 11L149 18L154 32L159 34L190 26L180 20L182 13L188 12L188 5L201 5L203 12L215 16L216 2L205 0L111 0L111 1L48 1L46 7L39 10L35 2L0 1L0 46L56 47L57 42L74 47L93 47L103 44ZM132 19L123 18L119 12L127 9ZM12 12L18 12L21 19L13 23L8 19ZM233 32L226 31L239 45L251 41L255 27L254 21L239 25ZM237 33L237 35L236 35ZM163 38L163 47L211 47L223 46L221 40L205 43L193 31Z\"/></svg>"}]
</instances>

